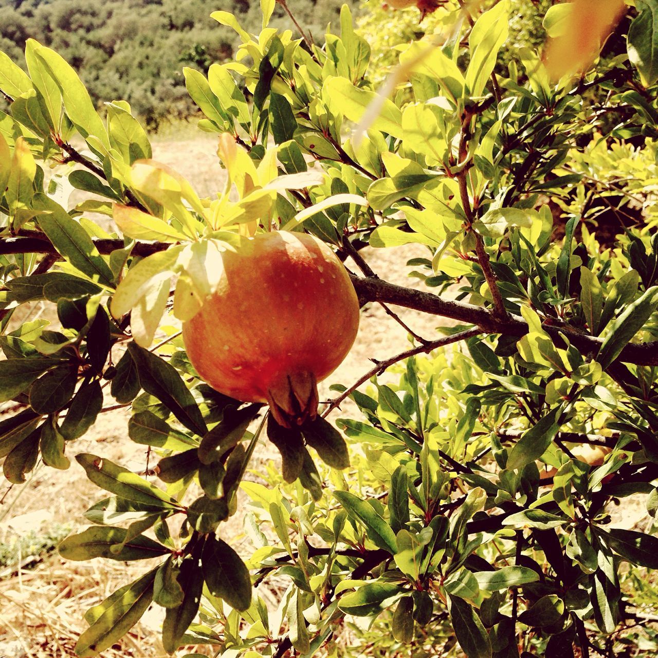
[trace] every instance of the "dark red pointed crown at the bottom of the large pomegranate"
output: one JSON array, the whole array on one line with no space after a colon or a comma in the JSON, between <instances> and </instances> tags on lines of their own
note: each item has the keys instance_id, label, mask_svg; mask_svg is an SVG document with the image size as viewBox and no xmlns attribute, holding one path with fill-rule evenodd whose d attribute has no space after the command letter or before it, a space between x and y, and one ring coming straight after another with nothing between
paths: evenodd
<instances>
[{"instance_id":1,"label":"dark red pointed crown at the bottom of the large pomegranate","mask_svg":"<svg viewBox=\"0 0 658 658\"><path fill-rule=\"evenodd\" d=\"M280 426L291 428L318 415L318 385L313 372L288 374L267 391L270 413Z\"/></svg>"}]
</instances>

